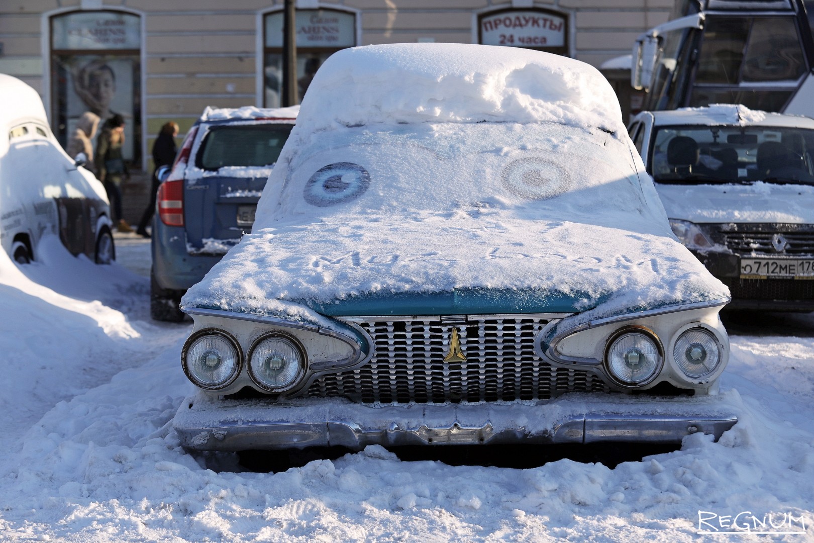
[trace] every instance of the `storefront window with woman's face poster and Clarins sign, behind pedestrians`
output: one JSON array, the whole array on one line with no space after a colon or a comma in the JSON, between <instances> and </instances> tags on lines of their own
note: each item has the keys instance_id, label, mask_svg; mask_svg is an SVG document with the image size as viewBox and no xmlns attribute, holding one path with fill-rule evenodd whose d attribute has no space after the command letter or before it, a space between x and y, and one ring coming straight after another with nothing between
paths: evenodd
<instances>
[{"instance_id":1,"label":"storefront window with woman's face poster and Clarins sign, behind pedestrians","mask_svg":"<svg viewBox=\"0 0 814 543\"><path fill-rule=\"evenodd\" d=\"M81 119L125 118L122 155L141 160L141 21L118 11L51 18L52 129L65 147ZM95 143L95 141L94 141Z\"/></svg>"}]
</instances>

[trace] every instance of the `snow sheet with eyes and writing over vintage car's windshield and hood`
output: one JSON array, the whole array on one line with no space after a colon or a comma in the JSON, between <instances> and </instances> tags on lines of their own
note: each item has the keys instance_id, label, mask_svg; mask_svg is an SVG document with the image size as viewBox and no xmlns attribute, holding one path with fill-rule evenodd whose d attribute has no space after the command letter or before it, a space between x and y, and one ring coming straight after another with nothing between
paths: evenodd
<instances>
[{"instance_id":1,"label":"snow sheet with eyes and writing over vintage car's windshield and hood","mask_svg":"<svg viewBox=\"0 0 814 543\"><path fill-rule=\"evenodd\" d=\"M337 129L290 139L278 164L252 234L187 307L291 317L279 300L484 288L612 313L729 295L672 239L628 142L599 130Z\"/></svg>"}]
</instances>

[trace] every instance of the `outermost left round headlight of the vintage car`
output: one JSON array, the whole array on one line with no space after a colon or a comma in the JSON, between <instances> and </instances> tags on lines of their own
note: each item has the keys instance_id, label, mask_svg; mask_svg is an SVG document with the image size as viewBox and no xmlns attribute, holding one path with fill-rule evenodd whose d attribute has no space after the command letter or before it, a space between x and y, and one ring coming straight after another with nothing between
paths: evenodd
<instances>
[{"instance_id":1,"label":"outermost left round headlight of the vintage car","mask_svg":"<svg viewBox=\"0 0 814 543\"><path fill-rule=\"evenodd\" d=\"M238 377L240 348L223 331L202 330L186 340L181 364L186 376L200 388L224 388Z\"/></svg>"}]
</instances>

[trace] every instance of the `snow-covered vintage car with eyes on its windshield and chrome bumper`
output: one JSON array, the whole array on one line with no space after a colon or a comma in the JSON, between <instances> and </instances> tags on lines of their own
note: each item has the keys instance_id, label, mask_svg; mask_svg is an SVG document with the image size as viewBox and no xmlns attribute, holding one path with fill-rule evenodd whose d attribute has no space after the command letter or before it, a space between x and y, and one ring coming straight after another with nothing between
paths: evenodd
<instances>
[{"instance_id":1,"label":"snow-covered vintage car with eyes on its windshield and chrome bumper","mask_svg":"<svg viewBox=\"0 0 814 543\"><path fill-rule=\"evenodd\" d=\"M227 451L720 436L728 301L589 65L343 50L252 234L182 300L174 427Z\"/></svg>"}]
</instances>

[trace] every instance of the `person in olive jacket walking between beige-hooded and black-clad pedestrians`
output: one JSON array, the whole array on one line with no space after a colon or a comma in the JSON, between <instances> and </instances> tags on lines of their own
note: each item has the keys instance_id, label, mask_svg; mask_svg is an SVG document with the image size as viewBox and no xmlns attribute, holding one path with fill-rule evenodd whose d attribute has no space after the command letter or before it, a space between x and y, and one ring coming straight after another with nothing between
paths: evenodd
<instances>
[{"instance_id":1,"label":"person in olive jacket walking between beige-hooded and black-clad pedestrians","mask_svg":"<svg viewBox=\"0 0 814 543\"><path fill-rule=\"evenodd\" d=\"M121 147L125 143L125 118L118 113L106 120L102 132L96 140L96 177L103 182L110 200L113 224L120 232L132 232L129 224L121 217L121 182L129 177Z\"/></svg>"}]
</instances>

